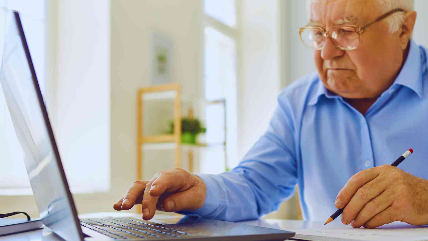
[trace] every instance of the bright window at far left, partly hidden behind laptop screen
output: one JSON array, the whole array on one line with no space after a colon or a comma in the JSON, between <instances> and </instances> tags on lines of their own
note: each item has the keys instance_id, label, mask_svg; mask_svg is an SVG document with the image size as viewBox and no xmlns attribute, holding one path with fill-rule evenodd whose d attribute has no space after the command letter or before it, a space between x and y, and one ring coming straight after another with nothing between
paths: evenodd
<instances>
[{"instance_id":1,"label":"bright window at far left, partly hidden behind laptop screen","mask_svg":"<svg viewBox=\"0 0 428 241\"><path fill-rule=\"evenodd\" d=\"M45 89L45 0L0 0L0 55L12 17L11 10L20 12L39 83ZM1 65L1 63L0 63ZM9 110L0 91L0 195L32 194L23 160L21 145L15 135Z\"/></svg>"}]
</instances>

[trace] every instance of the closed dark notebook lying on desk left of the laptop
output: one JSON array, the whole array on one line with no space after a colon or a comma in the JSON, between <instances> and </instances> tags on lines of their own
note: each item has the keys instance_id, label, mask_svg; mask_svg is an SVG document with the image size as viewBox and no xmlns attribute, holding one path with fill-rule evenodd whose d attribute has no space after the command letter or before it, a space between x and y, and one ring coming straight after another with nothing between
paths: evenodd
<instances>
[{"instance_id":1,"label":"closed dark notebook lying on desk left of the laptop","mask_svg":"<svg viewBox=\"0 0 428 241\"><path fill-rule=\"evenodd\" d=\"M40 218L32 218L30 221L18 218L0 218L0 236L41 229L42 227Z\"/></svg>"}]
</instances>

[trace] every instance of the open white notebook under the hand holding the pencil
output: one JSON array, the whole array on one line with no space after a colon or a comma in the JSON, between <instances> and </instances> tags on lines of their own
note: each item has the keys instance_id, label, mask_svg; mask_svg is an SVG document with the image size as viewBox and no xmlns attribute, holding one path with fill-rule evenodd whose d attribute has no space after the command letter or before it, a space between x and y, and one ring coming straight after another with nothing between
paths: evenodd
<instances>
[{"instance_id":1,"label":"open white notebook under the hand holding the pencil","mask_svg":"<svg viewBox=\"0 0 428 241\"><path fill-rule=\"evenodd\" d=\"M310 241L422 241L428 240L428 225L413 226L407 223L394 222L375 229L354 229L351 226L332 229L297 229L291 239Z\"/></svg>"}]
</instances>

